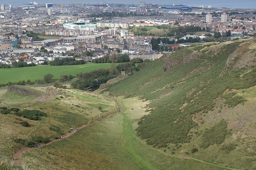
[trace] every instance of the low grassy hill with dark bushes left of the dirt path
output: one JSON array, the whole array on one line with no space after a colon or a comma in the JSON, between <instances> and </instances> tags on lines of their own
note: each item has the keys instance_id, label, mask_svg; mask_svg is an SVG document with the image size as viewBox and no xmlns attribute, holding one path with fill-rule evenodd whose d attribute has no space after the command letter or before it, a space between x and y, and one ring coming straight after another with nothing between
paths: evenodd
<instances>
[{"instance_id":1,"label":"low grassy hill with dark bushes left of the dirt path","mask_svg":"<svg viewBox=\"0 0 256 170\"><path fill-rule=\"evenodd\" d=\"M40 95L25 96L16 92L1 92L1 155L10 156L20 148L34 146L33 143L40 141L39 139L42 139L42 143L59 139L70 132L70 127L75 129L116 109L112 100L92 92L17 87L39 92ZM14 111L13 107L20 111ZM32 115L34 113L43 116L37 118ZM28 122L29 127L22 126L22 121Z\"/></svg>"}]
</instances>

